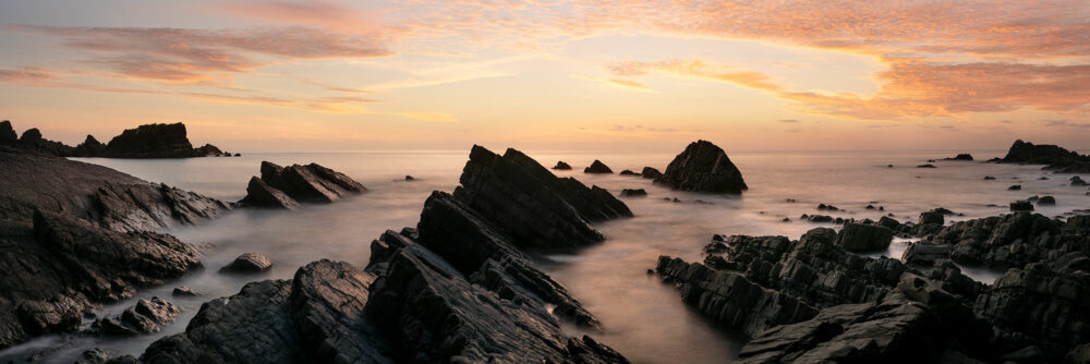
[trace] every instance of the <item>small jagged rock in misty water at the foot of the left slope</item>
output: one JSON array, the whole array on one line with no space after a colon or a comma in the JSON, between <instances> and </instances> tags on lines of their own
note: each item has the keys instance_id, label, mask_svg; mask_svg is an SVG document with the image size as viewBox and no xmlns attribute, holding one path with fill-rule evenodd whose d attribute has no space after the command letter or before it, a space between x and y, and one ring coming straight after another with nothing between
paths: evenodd
<instances>
[{"instance_id":1,"label":"small jagged rock in misty water at the foot of the left slope","mask_svg":"<svg viewBox=\"0 0 1090 364\"><path fill-rule=\"evenodd\" d=\"M159 298L140 300L135 306L129 307L120 316L95 321L93 329L110 336L158 332L164 325L172 323L180 312L173 303Z\"/></svg>"}]
</instances>

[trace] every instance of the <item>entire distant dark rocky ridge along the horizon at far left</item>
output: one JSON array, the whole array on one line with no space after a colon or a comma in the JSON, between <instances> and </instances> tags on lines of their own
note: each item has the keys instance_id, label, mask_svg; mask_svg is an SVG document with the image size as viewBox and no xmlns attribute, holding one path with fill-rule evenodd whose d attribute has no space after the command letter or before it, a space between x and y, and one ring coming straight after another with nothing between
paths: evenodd
<instances>
[{"instance_id":1,"label":"entire distant dark rocky ridge along the horizon at far left","mask_svg":"<svg viewBox=\"0 0 1090 364\"><path fill-rule=\"evenodd\" d=\"M230 157L211 144L194 148L186 137L185 124L147 124L129 129L102 144L94 135L87 135L75 147L41 136L37 129L28 129L22 136L15 136L11 121L0 122L0 145L33 150L57 157L101 157L101 158L194 158Z\"/></svg>"}]
</instances>

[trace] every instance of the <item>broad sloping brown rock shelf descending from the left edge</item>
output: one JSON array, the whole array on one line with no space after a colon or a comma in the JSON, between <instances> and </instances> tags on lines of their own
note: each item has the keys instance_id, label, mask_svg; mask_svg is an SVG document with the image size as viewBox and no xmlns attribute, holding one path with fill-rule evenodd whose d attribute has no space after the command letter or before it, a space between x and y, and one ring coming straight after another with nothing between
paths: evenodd
<instances>
[{"instance_id":1,"label":"broad sloping brown rock shelf descending from the left edge","mask_svg":"<svg viewBox=\"0 0 1090 364\"><path fill-rule=\"evenodd\" d=\"M0 148L0 349L75 330L83 313L199 266L150 232L228 210L111 169Z\"/></svg>"}]
</instances>

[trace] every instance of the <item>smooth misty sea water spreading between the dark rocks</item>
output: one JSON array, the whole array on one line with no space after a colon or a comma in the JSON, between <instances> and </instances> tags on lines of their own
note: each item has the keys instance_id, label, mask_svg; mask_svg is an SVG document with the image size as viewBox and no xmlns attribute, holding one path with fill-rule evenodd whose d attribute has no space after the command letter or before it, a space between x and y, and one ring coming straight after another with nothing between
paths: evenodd
<instances>
[{"instance_id":1,"label":"smooth misty sea water spreading between the dark rocks","mask_svg":"<svg viewBox=\"0 0 1090 364\"><path fill-rule=\"evenodd\" d=\"M915 220L921 211L941 206L964 214L948 217L947 221L971 219L1006 213L1008 203L1033 195L1056 197L1055 206L1039 207L1038 213L1046 216L1090 208L1087 189L1068 186L1070 174L1053 174L1042 171L1040 166L936 161L935 169L915 168L928 159L965 150L730 153L750 186L741 196L675 192L638 177L582 173L582 167L594 159L601 159L615 172L639 171L644 166L665 170L673 154L525 151L546 167L557 160L569 162L576 169L557 174L576 177L588 185L595 184L615 194L621 189L647 191L646 197L621 197L635 214L634 218L595 225L606 234L605 243L536 262L603 321L605 331L592 335L637 363L723 363L737 355L741 347L738 337L702 319L681 303L673 287L646 275L659 255L701 259L701 248L713 234L798 239L809 229L834 227L799 219L802 214L815 213L857 219L894 214L900 220ZM1002 156L1004 150L971 153L978 160L984 160ZM0 352L0 362L21 361L53 347L62 348L44 356L46 362L71 363L84 350L96 347L138 355L153 341L183 331L203 302L234 294L246 282L290 279L300 266L320 258L362 267L366 265L373 239L388 229L414 226L432 191L453 190L468 154L467 149L252 153L234 158L177 160L80 159L225 201L244 196L250 177L259 173L263 160L280 165L318 162L354 178L368 192L337 204L305 205L294 211L242 209L199 226L168 229L167 232L182 241L199 246L205 268L177 282L143 291L133 300L102 307L98 314L117 314L136 299L158 295L182 308L174 324L161 332L135 338L44 337ZM407 182L405 174L416 180ZM985 181L984 175L996 180ZM1020 184L1022 190L1007 191L1013 184ZM681 203L663 201L666 197L677 197ZM788 198L796 202L788 203ZM818 204L835 205L844 211L818 211ZM867 210L868 204L883 206L885 211ZM782 221L785 217L792 222ZM888 252L875 255L899 258L909 241L897 239ZM272 259L271 271L257 276L217 272L246 252L262 253ZM988 283L1002 274L964 268L974 279ZM170 298L170 291L179 286L205 295Z\"/></svg>"}]
</instances>

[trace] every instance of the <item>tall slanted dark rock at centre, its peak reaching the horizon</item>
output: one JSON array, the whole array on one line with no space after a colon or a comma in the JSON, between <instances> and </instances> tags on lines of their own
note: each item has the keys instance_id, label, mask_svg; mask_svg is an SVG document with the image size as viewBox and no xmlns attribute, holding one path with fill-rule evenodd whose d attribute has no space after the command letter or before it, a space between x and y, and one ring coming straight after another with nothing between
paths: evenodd
<instances>
[{"instance_id":1,"label":"tall slanted dark rock at centre, its peak reaching the horizon","mask_svg":"<svg viewBox=\"0 0 1090 364\"><path fill-rule=\"evenodd\" d=\"M608 191L557 178L519 150L504 156L474 146L453 197L492 222L518 246L565 248L604 236L591 221L631 217Z\"/></svg>"}]
</instances>

